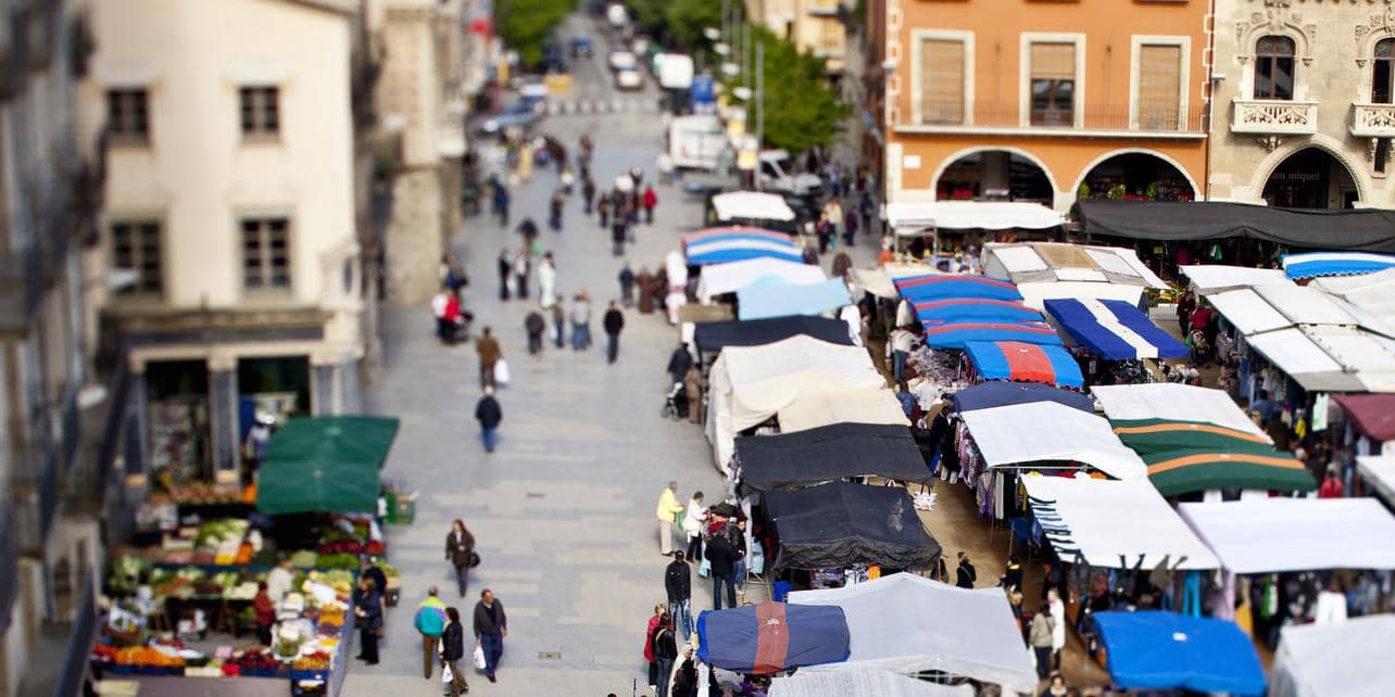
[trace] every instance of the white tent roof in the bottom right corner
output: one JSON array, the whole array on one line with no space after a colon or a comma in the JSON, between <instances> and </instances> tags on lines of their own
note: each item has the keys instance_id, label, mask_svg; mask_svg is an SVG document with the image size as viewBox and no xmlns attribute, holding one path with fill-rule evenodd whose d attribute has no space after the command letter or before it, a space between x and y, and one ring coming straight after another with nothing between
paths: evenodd
<instances>
[{"instance_id":1,"label":"white tent roof in the bottom right corner","mask_svg":"<svg viewBox=\"0 0 1395 697\"><path fill-rule=\"evenodd\" d=\"M1279 631L1269 697L1381 697L1395 684L1395 615Z\"/></svg>"}]
</instances>

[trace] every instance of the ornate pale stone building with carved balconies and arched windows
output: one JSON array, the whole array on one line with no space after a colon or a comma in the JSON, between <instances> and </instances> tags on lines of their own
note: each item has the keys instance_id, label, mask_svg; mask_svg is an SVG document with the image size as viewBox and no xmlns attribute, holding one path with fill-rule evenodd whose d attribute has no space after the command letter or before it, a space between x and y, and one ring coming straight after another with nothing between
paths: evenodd
<instances>
[{"instance_id":1,"label":"ornate pale stone building with carved balconies and arched windows","mask_svg":"<svg viewBox=\"0 0 1395 697\"><path fill-rule=\"evenodd\" d=\"M1216 0L1214 201L1395 208L1395 4Z\"/></svg>"}]
</instances>

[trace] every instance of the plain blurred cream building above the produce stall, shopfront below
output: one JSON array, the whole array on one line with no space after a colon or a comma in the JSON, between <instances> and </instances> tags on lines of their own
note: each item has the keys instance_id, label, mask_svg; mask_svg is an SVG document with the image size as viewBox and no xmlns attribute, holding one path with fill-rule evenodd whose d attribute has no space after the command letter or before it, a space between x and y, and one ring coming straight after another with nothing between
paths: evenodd
<instances>
[{"instance_id":1,"label":"plain blurred cream building above the produce stall, shopfront below","mask_svg":"<svg viewBox=\"0 0 1395 697\"><path fill-rule=\"evenodd\" d=\"M86 263L134 273L88 300L130 350L153 468L232 477L254 406L361 408L359 6L88 3L80 128L109 176Z\"/></svg>"}]
</instances>

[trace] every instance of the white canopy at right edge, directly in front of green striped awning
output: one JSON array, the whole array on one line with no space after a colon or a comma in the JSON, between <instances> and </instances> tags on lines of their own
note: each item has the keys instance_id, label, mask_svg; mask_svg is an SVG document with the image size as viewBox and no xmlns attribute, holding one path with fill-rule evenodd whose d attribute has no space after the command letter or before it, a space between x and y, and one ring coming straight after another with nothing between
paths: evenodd
<instances>
[{"instance_id":1,"label":"white canopy at right edge, directly in front of green striped awning","mask_svg":"<svg viewBox=\"0 0 1395 697\"><path fill-rule=\"evenodd\" d=\"M1235 573L1395 569L1395 517L1375 499L1249 499L1177 510Z\"/></svg>"}]
</instances>

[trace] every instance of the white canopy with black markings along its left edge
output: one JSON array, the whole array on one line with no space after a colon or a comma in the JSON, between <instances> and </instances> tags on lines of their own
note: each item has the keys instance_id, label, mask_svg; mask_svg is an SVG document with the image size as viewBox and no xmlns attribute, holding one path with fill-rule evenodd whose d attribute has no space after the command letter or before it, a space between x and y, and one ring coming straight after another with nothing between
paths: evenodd
<instances>
[{"instance_id":1,"label":"white canopy with black markings along its left edge","mask_svg":"<svg viewBox=\"0 0 1395 697\"><path fill-rule=\"evenodd\" d=\"M1023 477L1028 503L1062 559L1084 556L1103 569L1216 569L1211 549L1177 517L1148 480Z\"/></svg>"}]
</instances>

